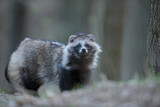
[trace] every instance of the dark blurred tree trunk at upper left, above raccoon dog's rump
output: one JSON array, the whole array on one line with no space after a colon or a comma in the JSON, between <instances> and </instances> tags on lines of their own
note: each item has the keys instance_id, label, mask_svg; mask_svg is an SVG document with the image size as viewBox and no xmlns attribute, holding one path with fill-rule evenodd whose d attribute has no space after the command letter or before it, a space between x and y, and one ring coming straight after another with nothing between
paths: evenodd
<instances>
[{"instance_id":1,"label":"dark blurred tree trunk at upper left, above raccoon dog's rump","mask_svg":"<svg viewBox=\"0 0 160 107\"><path fill-rule=\"evenodd\" d=\"M19 0L11 1L10 6L9 49L12 53L24 37L26 7L25 2Z\"/></svg>"}]
</instances>

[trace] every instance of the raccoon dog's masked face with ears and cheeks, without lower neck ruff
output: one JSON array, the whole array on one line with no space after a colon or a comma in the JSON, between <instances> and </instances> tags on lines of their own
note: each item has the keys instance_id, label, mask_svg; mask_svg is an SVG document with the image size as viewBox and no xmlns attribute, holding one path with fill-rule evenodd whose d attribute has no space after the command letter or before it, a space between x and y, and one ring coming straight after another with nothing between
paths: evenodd
<instances>
[{"instance_id":1,"label":"raccoon dog's masked face with ears and cheeks, without lower neck ruff","mask_svg":"<svg viewBox=\"0 0 160 107\"><path fill-rule=\"evenodd\" d=\"M100 51L100 47L92 34L71 35L68 46L68 51L77 59L93 58Z\"/></svg>"}]
</instances>

